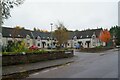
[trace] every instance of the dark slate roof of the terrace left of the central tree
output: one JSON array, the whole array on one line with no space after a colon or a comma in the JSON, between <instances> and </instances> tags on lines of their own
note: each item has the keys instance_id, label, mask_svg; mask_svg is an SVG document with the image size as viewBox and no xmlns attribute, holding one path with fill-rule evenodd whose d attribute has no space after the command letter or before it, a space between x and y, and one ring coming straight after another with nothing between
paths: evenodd
<instances>
[{"instance_id":1,"label":"dark slate roof of the terrace left of the central tree","mask_svg":"<svg viewBox=\"0 0 120 80\"><path fill-rule=\"evenodd\" d=\"M3 37L12 37L14 35L15 38L26 38L26 35L29 35L31 38L33 38L31 33L33 33L35 38L37 38L38 36L40 36L42 39L46 39L47 37L50 37L49 32L45 33L45 32L26 30L26 29L2 27Z\"/></svg>"}]
</instances>

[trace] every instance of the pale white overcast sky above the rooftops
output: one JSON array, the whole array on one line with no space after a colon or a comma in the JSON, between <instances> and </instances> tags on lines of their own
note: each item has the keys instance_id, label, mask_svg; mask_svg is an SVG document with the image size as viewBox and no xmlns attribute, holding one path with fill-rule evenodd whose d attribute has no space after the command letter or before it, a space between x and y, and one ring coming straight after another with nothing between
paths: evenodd
<instances>
[{"instance_id":1,"label":"pale white overcast sky above the rooftops","mask_svg":"<svg viewBox=\"0 0 120 80\"><path fill-rule=\"evenodd\" d=\"M61 21L69 30L109 29L118 24L118 0L25 0L11 15L5 26L50 31Z\"/></svg>"}]
</instances>

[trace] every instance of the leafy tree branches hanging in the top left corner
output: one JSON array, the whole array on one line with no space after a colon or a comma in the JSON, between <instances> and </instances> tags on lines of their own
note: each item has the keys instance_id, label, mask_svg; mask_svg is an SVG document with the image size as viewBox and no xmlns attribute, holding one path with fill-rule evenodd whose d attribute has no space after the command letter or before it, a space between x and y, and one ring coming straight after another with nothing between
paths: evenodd
<instances>
[{"instance_id":1,"label":"leafy tree branches hanging in the top left corner","mask_svg":"<svg viewBox=\"0 0 120 80\"><path fill-rule=\"evenodd\" d=\"M0 0L0 32L2 32L3 20L11 17L11 8L19 6L23 4L23 2L24 0Z\"/></svg>"}]
</instances>

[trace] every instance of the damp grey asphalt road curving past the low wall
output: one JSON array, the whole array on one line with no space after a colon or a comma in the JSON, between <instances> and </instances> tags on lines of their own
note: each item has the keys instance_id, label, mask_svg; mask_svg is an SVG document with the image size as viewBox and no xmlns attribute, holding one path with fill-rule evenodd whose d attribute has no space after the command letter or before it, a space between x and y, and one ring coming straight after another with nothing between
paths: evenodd
<instances>
[{"instance_id":1,"label":"damp grey asphalt road curving past the low wall","mask_svg":"<svg viewBox=\"0 0 120 80\"><path fill-rule=\"evenodd\" d=\"M118 51L102 53L75 52L75 62L49 68L27 78L117 78Z\"/></svg>"}]
</instances>

